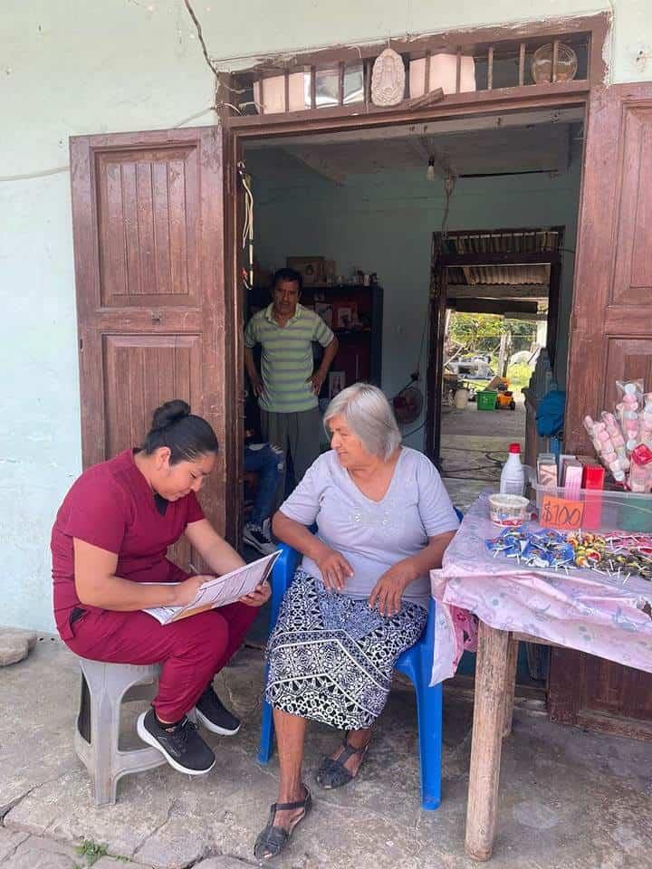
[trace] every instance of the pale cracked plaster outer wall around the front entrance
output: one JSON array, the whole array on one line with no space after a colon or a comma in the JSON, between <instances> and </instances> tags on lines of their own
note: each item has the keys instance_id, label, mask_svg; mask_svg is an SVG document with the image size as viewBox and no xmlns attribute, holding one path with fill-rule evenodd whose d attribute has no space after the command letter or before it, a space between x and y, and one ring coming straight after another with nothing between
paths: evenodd
<instances>
[{"instance_id":1,"label":"pale cracked plaster outer wall around the front entrance","mask_svg":"<svg viewBox=\"0 0 652 869\"><path fill-rule=\"evenodd\" d=\"M195 0L212 57L609 11L611 81L652 79L649 0ZM0 176L62 169L68 137L212 123L213 81L181 0L4 0ZM224 64L220 64L224 65ZM70 177L0 181L0 622L53 628L48 541L80 472Z\"/></svg>"}]
</instances>

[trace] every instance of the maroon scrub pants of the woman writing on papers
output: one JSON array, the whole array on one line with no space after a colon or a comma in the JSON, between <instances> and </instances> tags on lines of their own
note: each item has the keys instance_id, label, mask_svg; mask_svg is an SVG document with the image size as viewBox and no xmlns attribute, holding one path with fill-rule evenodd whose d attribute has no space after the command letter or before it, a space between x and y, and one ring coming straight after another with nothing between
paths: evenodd
<instances>
[{"instance_id":1,"label":"maroon scrub pants of the woman writing on papers","mask_svg":"<svg viewBox=\"0 0 652 869\"><path fill-rule=\"evenodd\" d=\"M159 625L141 611L87 610L64 639L93 661L162 664L152 705L160 721L180 721L242 644L257 612L235 603Z\"/></svg>"}]
</instances>

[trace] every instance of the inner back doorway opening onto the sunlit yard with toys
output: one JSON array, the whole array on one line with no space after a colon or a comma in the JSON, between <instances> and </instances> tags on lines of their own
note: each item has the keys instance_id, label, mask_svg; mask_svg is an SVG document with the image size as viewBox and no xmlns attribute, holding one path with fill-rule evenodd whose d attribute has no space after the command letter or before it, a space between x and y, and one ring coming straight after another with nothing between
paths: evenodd
<instances>
[{"instance_id":1,"label":"inner back doorway opening onto the sunlit yard with toys","mask_svg":"<svg viewBox=\"0 0 652 869\"><path fill-rule=\"evenodd\" d=\"M562 226L434 234L427 452L463 506L498 482L510 443L533 461L564 330L563 239Z\"/></svg>"}]
</instances>

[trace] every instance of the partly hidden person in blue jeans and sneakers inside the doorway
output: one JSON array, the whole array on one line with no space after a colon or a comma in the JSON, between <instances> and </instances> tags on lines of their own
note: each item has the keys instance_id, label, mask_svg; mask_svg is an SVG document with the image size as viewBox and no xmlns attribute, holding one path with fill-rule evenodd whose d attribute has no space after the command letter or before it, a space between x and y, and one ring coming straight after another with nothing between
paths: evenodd
<instances>
[{"instance_id":1,"label":"partly hidden person in blue jeans and sneakers inside the doorway","mask_svg":"<svg viewBox=\"0 0 652 869\"><path fill-rule=\"evenodd\" d=\"M243 542L262 555L278 549L272 540L272 512L276 489L285 469L283 450L275 444L265 444L257 437L254 407L250 393L245 393L245 472L258 477L254 507L245 522Z\"/></svg>"}]
</instances>

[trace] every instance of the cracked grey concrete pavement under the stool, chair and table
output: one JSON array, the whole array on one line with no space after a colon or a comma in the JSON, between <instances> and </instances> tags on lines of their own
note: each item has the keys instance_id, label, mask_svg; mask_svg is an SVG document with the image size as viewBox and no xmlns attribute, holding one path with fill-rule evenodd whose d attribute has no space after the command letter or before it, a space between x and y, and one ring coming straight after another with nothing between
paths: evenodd
<instances>
[{"instance_id":1,"label":"cracked grey concrete pavement under the stool, chair and table","mask_svg":"<svg viewBox=\"0 0 652 869\"><path fill-rule=\"evenodd\" d=\"M106 845L139 867L235 869L254 864L252 846L275 798L276 760L255 760L263 659L248 648L217 677L242 717L232 738L213 737L216 767L203 778L168 767L123 778L118 803L96 808L72 748L79 700L74 655L48 636L29 658L0 671L0 865L72 869L86 865L72 845ZM142 703L124 715L127 740ZM369 759L348 788L313 785L314 811L280 869L470 869L464 856L472 708L446 693L444 799L422 812L418 799L414 696L392 692ZM338 735L314 725L308 781ZM517 711L503 748L493 869L650 867L652 766L649 744L551 725ZM119 865L103 858L96 869Z\"/></svg>"}]
</instances>

